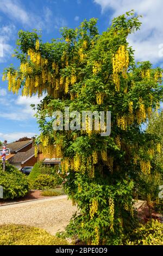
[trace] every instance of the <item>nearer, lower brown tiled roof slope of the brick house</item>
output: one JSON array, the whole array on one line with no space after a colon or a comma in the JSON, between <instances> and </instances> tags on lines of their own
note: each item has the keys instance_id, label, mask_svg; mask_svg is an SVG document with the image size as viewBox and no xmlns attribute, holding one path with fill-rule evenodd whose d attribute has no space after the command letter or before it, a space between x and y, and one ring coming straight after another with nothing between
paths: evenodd
<instances>
[{"instance_id":1,"label":"nearer, lower brown tiled roof slope of the brick house","mask_svg":"<svg viewBox=\"0 0 163 256\"><path fill-rule=\"evenodd\" d=\"M8 159L9 163L22 163L24 161L26 161L27 159L30 159L30 157L32 157L35 154L35 149L31 148L26 152L18 152L17 154L15 154L14 156L10 157L10 159Z\"/></svg>"}]
</instances>

